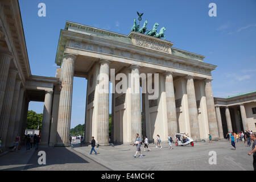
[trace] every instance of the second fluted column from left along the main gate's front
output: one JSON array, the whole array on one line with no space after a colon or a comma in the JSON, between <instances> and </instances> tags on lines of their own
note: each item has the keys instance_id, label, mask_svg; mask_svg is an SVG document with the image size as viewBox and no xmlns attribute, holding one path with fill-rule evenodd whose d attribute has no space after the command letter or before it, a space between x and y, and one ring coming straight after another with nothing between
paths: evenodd
<instances>
[{"instance_id":1,"label":"second fluted column from left along the main gate's front","mask_svg":"<svg viewBox=\"0 0 256 182\"><path fill-rule=\"evenodd\" d=\"M100 61L98 85L97 141L104 146L109 144L109 61Z\"/></svg>"}]
</instances>

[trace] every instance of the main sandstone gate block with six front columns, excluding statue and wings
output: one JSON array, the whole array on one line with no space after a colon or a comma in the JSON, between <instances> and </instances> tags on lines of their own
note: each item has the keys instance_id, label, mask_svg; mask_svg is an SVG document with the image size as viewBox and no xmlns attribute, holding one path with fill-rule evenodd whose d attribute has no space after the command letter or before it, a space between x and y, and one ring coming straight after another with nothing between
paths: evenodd
<instances>
[{"instance_id":1,"label":"main sandstone gate block with six front columns, excluding statue and wings","mask_svg":"<svg viewBox=\"0 0 256 182\"><path fill-rule=\"evenodd\" d=\"M157 134L167 140L168 133L177 132L197 140L208 138L208 134L218 138L211 84L211 71L216 66L205 63L204 56L172 46L167 40L135 31L122 35L67 22L60 31L55 60L60 66L56 73L60 84L53 94L56 100L49 143L69 142L74 76L88 80L86 142L94 136L98 144L109 144L109 92L99 92L101 88L109 91L109 81L113 88L118 83L126 87L125 93L112 93L113 142L131 143L136 133L147 135L149 140ZM157 80L152 78L152 87L157 85L159 90L155 98L148 99L152 94L147 92L129 92L141 90L141 73L158 74ZM99 75L104 76L99 79ZM118 75L133 79L123 81Z\"/></svg>"}]
</instances>

